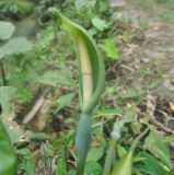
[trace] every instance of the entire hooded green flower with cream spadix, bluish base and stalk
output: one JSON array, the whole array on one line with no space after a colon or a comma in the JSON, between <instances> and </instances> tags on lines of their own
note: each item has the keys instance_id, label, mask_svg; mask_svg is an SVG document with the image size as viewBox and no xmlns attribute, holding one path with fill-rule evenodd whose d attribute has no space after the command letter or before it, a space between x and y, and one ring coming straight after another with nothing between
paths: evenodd
<instances>
[{"instance_id":1,"label":"entire hooded green flower with cream spadix, bluish base and stalk","mask_svg":"<svg viewBox=\"0 0 174 175\"><path fill-rule=\"evenodd\" d=\"M91 113L104 90L104 62L94 40L83 27L65 18L55 9L50 9L49 13L55 21L59 21L70 33L77 47L82 108L76 138L78 154L77 175L83 175L85 159L91 144Z\"/></svg>"}]
</instances>

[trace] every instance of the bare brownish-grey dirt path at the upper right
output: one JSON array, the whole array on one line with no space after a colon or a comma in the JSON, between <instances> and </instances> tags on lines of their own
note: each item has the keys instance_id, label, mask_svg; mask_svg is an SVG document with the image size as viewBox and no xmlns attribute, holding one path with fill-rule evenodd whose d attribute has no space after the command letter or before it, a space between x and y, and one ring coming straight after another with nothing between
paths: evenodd
<instances>
[{"instance_id":1,"label":"bare brownish-grey dirt path at the upper right","mask_svg":"<svg viewBox=\"0 0 174 175\"><path fill-rule=\"evenodd\" d=\"M112 7L120 9L123 19L135 25L146 24L146 39L136 48L136 56L142 62L153 63L163 72L159 80L159 96L174 97L174 25L152 16L131 0L112 0Z\"/></svg>"}]
</instances>

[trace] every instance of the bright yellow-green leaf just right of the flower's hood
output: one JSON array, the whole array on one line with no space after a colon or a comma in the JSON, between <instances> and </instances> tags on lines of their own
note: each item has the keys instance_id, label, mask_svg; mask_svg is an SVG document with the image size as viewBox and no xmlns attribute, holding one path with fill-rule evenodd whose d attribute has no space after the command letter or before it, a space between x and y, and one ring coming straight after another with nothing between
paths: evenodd
<instances>
[{"instance_id":1,"label":"bright yellow-green leaf just right of the flower's hood","mask_svg":"<svg viewBox=\"0 0 174 175\"><path fill-rule=\"evenodd\" d=\"M120 58L120 51L115 45L114 39L106 39L100 46L106 52L107 57L116 59L116 60Z\"/></svg>"}]
</instances>

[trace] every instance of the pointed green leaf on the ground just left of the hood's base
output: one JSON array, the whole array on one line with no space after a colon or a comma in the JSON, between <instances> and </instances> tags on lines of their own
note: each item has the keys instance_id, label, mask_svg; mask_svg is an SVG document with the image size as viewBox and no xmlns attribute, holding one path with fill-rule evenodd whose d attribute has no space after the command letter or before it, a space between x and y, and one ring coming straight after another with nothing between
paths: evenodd
<instances>
[{"instance_id":1,"label":"pointed green leaf on the ground just left of the hood's base","mask_svg":"<svg viewBox=\"0 0 174 175\"><path fill-rule=\"evenodd\" d=\"M73 96L74 96L73 93L62 96L59 100L59 103L58 103L58 106L57 106L57 108L55 110L55 114L58 113L63 107L68 106L70 104L70 102L72 101Z\"/></svg>"}]
</instances>

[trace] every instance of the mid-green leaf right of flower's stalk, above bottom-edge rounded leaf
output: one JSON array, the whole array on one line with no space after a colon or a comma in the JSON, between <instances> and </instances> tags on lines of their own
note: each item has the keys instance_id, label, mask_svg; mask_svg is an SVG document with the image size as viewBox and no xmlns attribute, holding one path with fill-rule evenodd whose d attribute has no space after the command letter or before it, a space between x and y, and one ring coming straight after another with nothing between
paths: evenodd
<instances>
[{"instance_id":1,"label":"mid-green leaf right of flower's stalk, above bottom-edge rounded leaf","mask_svg":"<svg viewBox=\"0 0 174 175\"><path fill-rule=\"evenodd\" d=\"M103 147L91 149L88 153L86 161L98 161L102 158L103 152L104 152Z\"/></svg>"}]
</instances>

